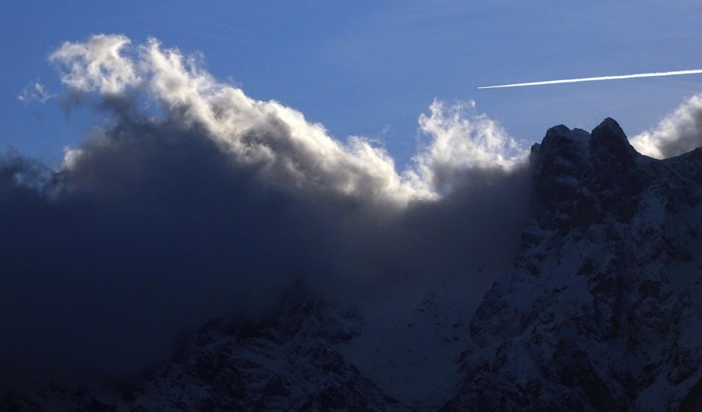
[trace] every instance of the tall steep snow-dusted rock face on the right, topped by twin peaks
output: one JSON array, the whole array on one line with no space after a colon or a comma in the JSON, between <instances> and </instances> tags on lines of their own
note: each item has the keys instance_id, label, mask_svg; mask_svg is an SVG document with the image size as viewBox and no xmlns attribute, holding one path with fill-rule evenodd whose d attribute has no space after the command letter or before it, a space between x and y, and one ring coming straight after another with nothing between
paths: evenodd
<instances>
[{"instance_id":1,"label":"tall steep snow-dusted rock face on the right, topped by twin peaks","mask_svg":"<svg viewBox=\"0 0 702 412\"><path fill-rule=\"evenodd\" d=\"M702 410L702 151L644 157L606 119L531 164L534 219L441 410Z\"/></svg>"}]
</instances>

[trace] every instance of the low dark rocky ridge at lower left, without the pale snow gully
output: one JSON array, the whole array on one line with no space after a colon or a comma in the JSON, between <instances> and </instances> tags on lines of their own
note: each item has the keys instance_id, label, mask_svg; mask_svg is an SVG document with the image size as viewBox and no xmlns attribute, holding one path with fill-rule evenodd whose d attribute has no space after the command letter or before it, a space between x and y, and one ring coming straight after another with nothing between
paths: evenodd
<instances>
[{"instance_id":1,"label":"low dark rocky ridge at lower left, without the pale snow gully","mask_svg":"<svg viewBox=\"0 0 702 412\"><path fill-rule=\"evenodd\" d=\"M6 397L0 411L408 411L338 352L361 320L319 300L286 299L263 320L209 322L119 392L51 385Z\"/></svg>"}]
</instances>

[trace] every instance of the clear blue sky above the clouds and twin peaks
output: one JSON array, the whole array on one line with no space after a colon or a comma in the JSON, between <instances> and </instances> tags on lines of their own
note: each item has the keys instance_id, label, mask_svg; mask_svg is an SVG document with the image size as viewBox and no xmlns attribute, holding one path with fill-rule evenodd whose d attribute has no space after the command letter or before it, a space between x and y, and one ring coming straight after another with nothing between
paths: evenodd
<instances>
[{"instance_id":1,"label":"clear blue sky above the clouds and twin peaks","mask_svg":"<svg viewBox=\"0 0 702 412\"><path fill-rule=\"evenodd\" d=\"M477 86L702 67L698 1L6 1L0 6L0 148L56 164L91 124L66 114L51 51L91 34L149 36L201 53L216 78L275 99L343 140L377 138L402 168L438 98L475 100L510 135L614 117L629 135L699 93L702 76L529 88ZM57 98L22 102L33 81Z\"/></svg>"}]
</instances>

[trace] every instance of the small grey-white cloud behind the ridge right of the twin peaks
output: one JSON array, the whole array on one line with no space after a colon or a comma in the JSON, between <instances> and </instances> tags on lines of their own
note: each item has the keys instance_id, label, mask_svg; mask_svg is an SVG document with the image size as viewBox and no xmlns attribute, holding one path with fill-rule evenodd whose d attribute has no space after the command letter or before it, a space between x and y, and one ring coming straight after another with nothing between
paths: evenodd
<instances>
[{"instance_id":1,"label":"small grey-white cloud behind the ridge right of the twin peaks","mask_svg":"<svg viewBox=\"0 0 702 412\"><path fill-rule=\"evenodd\" d=\"M638 152L665 159L702 146L702 94L682 102L656 128L630 139Z\"/></svg>"}]
</instances>

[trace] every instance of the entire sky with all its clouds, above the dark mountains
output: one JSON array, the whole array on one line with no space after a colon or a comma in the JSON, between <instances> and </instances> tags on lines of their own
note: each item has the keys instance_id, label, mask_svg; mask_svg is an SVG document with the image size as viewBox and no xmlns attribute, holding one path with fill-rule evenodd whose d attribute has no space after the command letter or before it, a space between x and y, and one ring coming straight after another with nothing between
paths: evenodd
<instances>
[{"instance_id":1,"label":"entire sky with all its clouds, above the dark mountains","mask_svg":"<svg viewBox=\"0 0 702 412\"><path fill-rule=\"evenodd\" d=\"M702 143L700 77L477 86L698 68L701 7L4 4L0 387L138 373L298 284L475 307L547 128Z\"/></svg>"}]
</instances>

